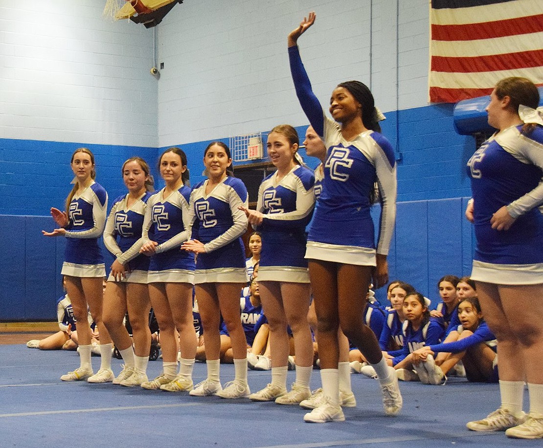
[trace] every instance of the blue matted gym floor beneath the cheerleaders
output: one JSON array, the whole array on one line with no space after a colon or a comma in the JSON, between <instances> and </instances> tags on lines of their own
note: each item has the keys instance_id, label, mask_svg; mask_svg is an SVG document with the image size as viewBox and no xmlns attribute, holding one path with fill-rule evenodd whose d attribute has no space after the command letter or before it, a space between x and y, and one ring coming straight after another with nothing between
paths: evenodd
<instances>
[{"instance_id":1,"label":"blue matted gym floor beneath the cheerleaders","mask_svg":"<svg viewBox=\"0 0 543 448\"><path fill-rule=\"evenodd\" d=\"M48 333L50 334L50 333ZM399 416L383 414L374 379L352 375L356 408L346 408L345 422L304 423L304 409L247 399L191 397L188 393L148 391L118 385L62 382L79 366L77 352L28 349L40 333L0 334L0 433L2 446L102 447L235 446L538 446L538 441L507 439L503 433L468 431L465 423L499 405L497 384L450 378L445 386L401 383ZM99 357L93 357L94 371ZM115 374L122 360L113 358ZM160 374L160 360L149 362L148 375ZM289 372L288 381L294 381ZM194 383L206 366L194 366ZM233 379L233 365L221 366L223 384ZM270 372L249 371L253 391L270 382ZM312 376L319 387L319 372ZM526 398L527 403L527 398Z\"/></svg>"}]
</instances>

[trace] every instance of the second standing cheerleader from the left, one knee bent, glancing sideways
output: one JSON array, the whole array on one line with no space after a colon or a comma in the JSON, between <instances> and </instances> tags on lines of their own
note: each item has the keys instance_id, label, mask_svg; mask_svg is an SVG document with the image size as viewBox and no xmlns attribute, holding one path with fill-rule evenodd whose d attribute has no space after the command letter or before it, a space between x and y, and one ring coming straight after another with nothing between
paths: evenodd
<instances>
[{"instance_id":1,"label":"second standing cheerleader from the left, one knee bent, glancing sideways","mask_svg":"<svg viewBox=\"0 0 543 448\"><path fill-rule=\"evenodd\" d=\"M113 379L113 384L136 386L148 381L146 371L151 344L151 304L147 287L149 257L140 254L140 249L143 217L154 183L149 165L140 157L125 161L121 172L128 194L115 200L104 230L105 246L116 259L105 288L103 319L124 361L123 370ZM134 349L123 325L127 310Z\"/></svg>"}]
</instances>

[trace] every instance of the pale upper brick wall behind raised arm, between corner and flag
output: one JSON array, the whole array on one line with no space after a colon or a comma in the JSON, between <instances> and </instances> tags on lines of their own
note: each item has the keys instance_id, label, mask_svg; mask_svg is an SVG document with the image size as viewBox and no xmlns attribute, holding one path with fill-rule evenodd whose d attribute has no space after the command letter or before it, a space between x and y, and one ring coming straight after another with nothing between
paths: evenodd
<instances>
[{"instance_id":1,"label":"pale upper brick wall behind raised arm, between corner and flag","mask_svg":"<svg viewBox=\"0 0 543 448\"><path fill-rule=\"evenodd\" d=\"M370 39L370 5L372 36ZM308 11L317 22L300 39L313 90L325 105L342 80L370 81L385 110L426 105L428 2L400 0L187 0L159 25L159 146L307 122L294 94L286 37Z\"/></svg>"}]
</instances>

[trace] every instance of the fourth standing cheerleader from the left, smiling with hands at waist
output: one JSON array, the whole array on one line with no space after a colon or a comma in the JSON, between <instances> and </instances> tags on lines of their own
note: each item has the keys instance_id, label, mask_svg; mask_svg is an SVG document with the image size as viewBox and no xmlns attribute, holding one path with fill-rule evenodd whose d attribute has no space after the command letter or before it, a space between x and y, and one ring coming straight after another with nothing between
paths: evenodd
<instances>
[{"instance_id":1,"label":"fourth standing cheerleader from the left, smiling with hands at waist","mask_svg":"<svg viewBox=\"0 0 543 448\"><path fill-rule=\"evenodd\" d=\"M207 180L192 190L190 202L192 239L181 250L198 254L194 283L204 327L207 378L190 395L217 395L236 399L250 394L247 383L247 343L239 315L239 293L247 285L245 249L241 236L247 217L247 188L228 176L230 148L214 141L204 151ZM230 335L235 370L233 381L220 384L220 316Z\"/></svg>"}]
</instances>

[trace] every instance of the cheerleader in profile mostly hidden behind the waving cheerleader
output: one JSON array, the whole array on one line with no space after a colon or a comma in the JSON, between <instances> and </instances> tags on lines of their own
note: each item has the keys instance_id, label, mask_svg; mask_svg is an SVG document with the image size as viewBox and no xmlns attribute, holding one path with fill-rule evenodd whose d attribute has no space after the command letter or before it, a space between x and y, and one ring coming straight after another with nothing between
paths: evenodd
<instances>
[{"instance_id":1,"label":"cheerleader in profile mostly hidden behind the waving cheerleader","mask_svg":"<svg viewBox=\"0 0 543 448\"><path fill-rule=\"evenodd\" d=\"M324 141L317 135L313 126L308 126L306 130L306 139L304 141L306 147L306 154L311 157L317 157L321 163L315 168L315 186L314 193L315 198L318 200L320 192L323 188L324 170L323 165L326 161L326 146ZM311 303L310 312L308 314L308 320L314 329L317 328L317 316L315 315L314 303ZM343 334L340 328L338 328L338 341L339 341L339 403L342 407L355 407L356 399L355 394L351 389L351 366L349 363L349 339ZM318 341L317 341L318 343ZM314 409L321 405L324 399L323 389L318 388L312 392L310 399L304 400L300 403L300 406L304 409Z\"/></svg>"}]
</instances>

